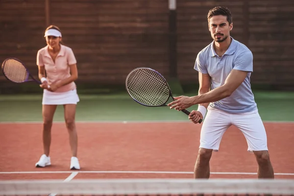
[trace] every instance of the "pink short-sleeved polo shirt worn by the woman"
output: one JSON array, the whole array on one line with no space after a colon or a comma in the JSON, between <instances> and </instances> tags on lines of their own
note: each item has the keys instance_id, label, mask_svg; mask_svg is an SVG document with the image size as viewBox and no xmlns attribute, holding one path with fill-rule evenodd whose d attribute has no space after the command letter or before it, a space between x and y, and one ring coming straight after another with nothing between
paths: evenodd
<instances>
[{"instance_id":1,"label":"pink short-sleeved polo shirt worn by the woman","mask_svg":"<svg viewBox=\"0 0 294 196\"><path fill-rule=\"evenodd\" d=\"M55 63L49 54L48 46L40 49L37 53L37 65L45 66L49 85L52 82L70 77L71 73L69 65L73 64L76 64L73 50L64 45L60 45L60 51L55 58ZM66 92L75 88L75 83L71 82L58 88L55 92Z\"/></svg>"}]
</instances>

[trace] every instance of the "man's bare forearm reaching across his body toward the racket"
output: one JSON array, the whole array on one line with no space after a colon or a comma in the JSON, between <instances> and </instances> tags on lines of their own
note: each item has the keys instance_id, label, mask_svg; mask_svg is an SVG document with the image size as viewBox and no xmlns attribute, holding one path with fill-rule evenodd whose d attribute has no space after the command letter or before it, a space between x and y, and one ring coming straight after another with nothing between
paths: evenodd
<instances>
[{"instance_id":1,"label":"man's bare forearm reaching across his body toward the racket","mask_svg":"<svg viewBox=\"0 0 294 196\"><path fill-rule=\"evenodd\" d=\"M220 86L207 93L192 97L193 98L192 102L193 102L193 105L209 104L210 102L219 101L223 98L229 97L230 95L231 93L227 90L226 86Z\"/></svg>"}]
</instances>

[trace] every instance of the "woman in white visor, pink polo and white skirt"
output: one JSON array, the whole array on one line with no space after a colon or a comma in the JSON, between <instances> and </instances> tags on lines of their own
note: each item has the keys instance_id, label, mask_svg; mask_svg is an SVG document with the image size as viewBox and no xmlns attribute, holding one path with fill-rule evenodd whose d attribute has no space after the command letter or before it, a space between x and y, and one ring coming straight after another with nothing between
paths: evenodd
<instances>
[{"instance_id":1,"label":"woman in white visor, pink polo and white skirt","mask_svg":"<svg viewBox=\"0 0 294 196\"><path fill-rule=\"evenodd\" d=\"M80 166L76 157L77 133L75 128L75 109L79 101L74 83L78 75L76 59L73 50L61 44L62 35L57 26L50 25L46 29L44 37L47 46L37 53L39 78L42 82L40 87L44 89L42 100L44 154L36 163L36 167L51 165L49 157L51 126L57 105L63 105L72 149L70 169L79 170Z\"/></svg>"}]
</instances>

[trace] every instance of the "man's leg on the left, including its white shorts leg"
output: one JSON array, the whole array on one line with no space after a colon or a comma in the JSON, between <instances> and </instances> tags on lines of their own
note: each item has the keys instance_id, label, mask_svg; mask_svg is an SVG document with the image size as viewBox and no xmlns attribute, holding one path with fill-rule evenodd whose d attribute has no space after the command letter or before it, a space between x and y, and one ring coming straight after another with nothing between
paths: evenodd
<instances>
[{"instance_id":1,"label":"man's leg on the left, including its white shorts leg","mask_svg":"<svg viewBox=\"0 0 294 196\"><path fill-rule=\"evenodd\" d=\"M194 168L194 178L209 178L209 161L212 151L218 151L221 138L231 125L229 115L221 110L208 108L200 133L200 146Z\"/></svg>"}]
</instances>

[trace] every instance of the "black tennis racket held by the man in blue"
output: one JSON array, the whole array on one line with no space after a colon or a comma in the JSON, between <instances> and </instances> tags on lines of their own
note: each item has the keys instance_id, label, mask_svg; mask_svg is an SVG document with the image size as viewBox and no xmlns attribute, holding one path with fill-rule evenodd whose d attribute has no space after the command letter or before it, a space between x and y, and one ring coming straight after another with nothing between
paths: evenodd
<instances>
[{"instance_id":1,"label":"black tennis racket held by the man in blue","mask_svg":"<svg viewBox=\"0 0 294 196\"><path fill-rule=\"evenodd\" d=\"M167 106L172 91L166 79L150 68L136 68L131 71L125 80L126 91L136 102L148 107ZM186 109L181 110L189 115ZM202 122L200 119L199 123Z\"/></svg>"}]
</instances>

